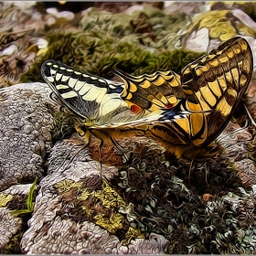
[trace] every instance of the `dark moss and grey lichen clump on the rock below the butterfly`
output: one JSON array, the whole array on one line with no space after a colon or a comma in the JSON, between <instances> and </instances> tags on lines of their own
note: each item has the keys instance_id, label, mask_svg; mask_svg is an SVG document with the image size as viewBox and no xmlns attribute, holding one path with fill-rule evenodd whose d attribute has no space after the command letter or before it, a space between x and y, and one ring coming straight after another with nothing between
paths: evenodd
<instances>
[{"instance_id":1,"label":"dark moss and grey lichen clump on the rock below the butterfly","mask_svg":"<svg viewBox=\"0 0 256 256\"><path fill-rule=\"evenodd\" d=\"M236 169L221 149L219 156L191 169L170 155L167 162L151 140L131 150L132 164L123 166L112 186L129 202L123 214L133 213L145 234L169 240L166 253L253 253L256 187L240 188ZM210 199L203 199L206 194Z\"/></svg>"}]
</instances>

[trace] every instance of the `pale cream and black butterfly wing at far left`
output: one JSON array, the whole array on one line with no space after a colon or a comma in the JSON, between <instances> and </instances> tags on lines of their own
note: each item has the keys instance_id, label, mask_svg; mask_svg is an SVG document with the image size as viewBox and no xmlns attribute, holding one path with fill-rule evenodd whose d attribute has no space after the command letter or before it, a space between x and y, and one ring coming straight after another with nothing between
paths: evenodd
<instances>
[{"instance_id":1,"label":"pale cream and black butterfly wing at far left","mask_svg":"<svg viewBox=\"0 0 256 256\"><path fill-rule=\"evenodd\" d=\"M101 119L124 106L120 96L123 83L104 80L52 59L43 63L41 74L59 100L82 119Z\"/></svg>"}]
</instances>

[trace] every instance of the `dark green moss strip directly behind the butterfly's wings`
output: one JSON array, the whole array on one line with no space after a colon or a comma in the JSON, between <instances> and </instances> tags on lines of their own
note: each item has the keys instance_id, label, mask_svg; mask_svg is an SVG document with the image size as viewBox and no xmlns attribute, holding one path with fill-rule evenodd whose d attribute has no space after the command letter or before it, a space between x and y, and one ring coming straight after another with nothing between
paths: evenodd
<instances>
[{"instance_id":1,"label":"dark green moss strip directly behind the butterfly's wings","mask_svg":"<svg viewBox=\"0 0 256 256\"><path fill-rule=\"evenodd\" d=\"M130 41L130 40L129 40ZM40 66L47 59L56 59L91 74L112 79L112 69L123 69L133 75L153 73L156 70L172 69L176 72L197 59L201 53L183 50L157 52L112 37L103 37L102 32L50 34L48 51L22 81L41 80Z\"/></svg>"}]
</instances>

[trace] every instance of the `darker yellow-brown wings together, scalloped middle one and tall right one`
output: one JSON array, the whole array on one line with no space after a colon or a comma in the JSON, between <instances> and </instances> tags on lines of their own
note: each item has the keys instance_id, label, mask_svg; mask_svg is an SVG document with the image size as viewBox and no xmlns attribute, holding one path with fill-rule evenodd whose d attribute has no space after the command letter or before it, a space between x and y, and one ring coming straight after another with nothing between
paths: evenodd
<instances>
[{"instance_id":1,"label":"darker yellow-brown wings together, scalloped middle one and tall right one","mask_svg":"<svg viewBox=\"0 0 256 256\"><path fill-rule=\"evenodd\" d=\"M133 77L117 70L123 79L124 101L150 112L165 113L148 124L147 133L169 145L208 145L225 129L251 80L251 47L233 37L189 63L179 77L172 71ZM188 112L183 118L174 118ZM164 122L163 122L164 121Z\"/></svg>"}]
</instances>

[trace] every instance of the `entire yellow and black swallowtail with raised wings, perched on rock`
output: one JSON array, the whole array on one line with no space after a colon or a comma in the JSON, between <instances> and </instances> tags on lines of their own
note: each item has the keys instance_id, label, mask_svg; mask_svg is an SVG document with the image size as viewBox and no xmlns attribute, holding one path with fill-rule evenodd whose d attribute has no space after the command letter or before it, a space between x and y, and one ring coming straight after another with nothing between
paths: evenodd
<instances>
[{"instance_id":1,"label":"entire yellow and black swallowtail with raised wings, perched on rock","mask_svg":"<svg viewBox=\"0 0 256 256\"><path fill-rule=\"evenodd\" d=\"M130 135L153 137L177 157L207 155L247 90L251 47L233 37L189 63L179 76L157 71L133 77L116 69L116 83L47 60L41 73L60 101L83 120L77 131L87 142ZM126 102L126 104L125 104ZM133 112L125 111L125 106Z\"/></svg>"}]
</instances>

